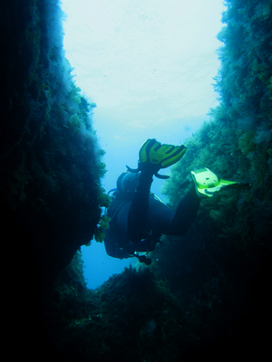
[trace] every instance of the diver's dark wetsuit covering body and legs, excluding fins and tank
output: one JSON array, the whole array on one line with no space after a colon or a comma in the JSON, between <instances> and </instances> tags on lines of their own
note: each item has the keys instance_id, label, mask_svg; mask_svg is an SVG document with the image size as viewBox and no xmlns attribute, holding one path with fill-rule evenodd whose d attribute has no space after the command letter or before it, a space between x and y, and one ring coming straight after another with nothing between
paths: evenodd
<instances>
[{"instance_id":1,"label":"diver's dark wetsuit covering body and legs, excluding fins and tank","mask_svg":"<svg viewBox=\"0 0 272 362\"><path fill-rule=\"evenodd\" d=\"M154 250L161 234L187 233L198 213L200 200L193 186L180 200L174 213L150 194L152 176L141 172L132 200L123 203L116 213L111 213L111 206L108 210L112 221L106 231L104 243L106 252L114 258L129 258L135 251Z\"/></svg>"}]
</instances>

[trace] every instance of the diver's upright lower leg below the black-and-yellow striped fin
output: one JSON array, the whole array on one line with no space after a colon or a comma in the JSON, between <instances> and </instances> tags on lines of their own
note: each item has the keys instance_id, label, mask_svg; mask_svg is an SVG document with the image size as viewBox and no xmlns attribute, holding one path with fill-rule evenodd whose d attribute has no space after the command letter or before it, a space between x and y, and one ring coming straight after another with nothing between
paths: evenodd
<instances>
[{"instance_id":1,"label":"diver's upright lower leg below the black-and-yellow striped fin","mask_svg":"<svg viewBox=\"0 0 272 362\"><path fill-rule=\"evenodd\" d=\"M151 172L142 171L139 177L139 185L133 196L128 214L128 237L131 242L139 243L146 237L146 223L149 211L149 195L153 175Z\"/></svg>"}]
</instances>

